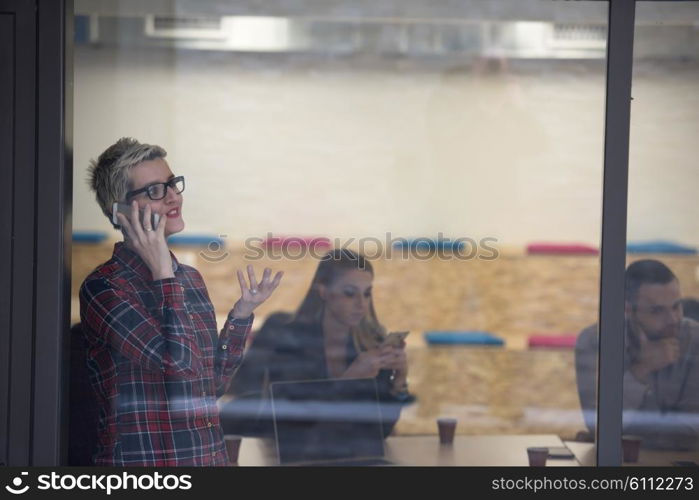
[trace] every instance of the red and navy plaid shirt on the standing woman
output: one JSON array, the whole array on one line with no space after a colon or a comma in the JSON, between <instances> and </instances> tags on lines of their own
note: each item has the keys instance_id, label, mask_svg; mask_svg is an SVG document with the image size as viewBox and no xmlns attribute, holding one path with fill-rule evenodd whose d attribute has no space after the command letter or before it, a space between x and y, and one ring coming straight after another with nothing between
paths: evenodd
<instances>
[{"instance_id":1,"label":"red and navy plaid shirt on the standing woman","mask_svg":"<svg viewBox=\"0 0 699 500\"><path fill-rule=\"evenodd\" d=\"M240 363L252 316L218 335L199 272L153 281L123 243L80 288L88 369L99 405L96 465L227 463L217 394Z\"/></svg>"}]
</instances>

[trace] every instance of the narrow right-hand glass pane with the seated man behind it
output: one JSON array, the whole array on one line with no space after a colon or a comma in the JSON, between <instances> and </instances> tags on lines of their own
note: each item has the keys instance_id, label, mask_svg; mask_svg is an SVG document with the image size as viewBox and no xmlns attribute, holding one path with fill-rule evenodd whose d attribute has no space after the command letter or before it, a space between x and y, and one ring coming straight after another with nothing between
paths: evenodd
<instances>
[{"instance_id":1,"label":"narrow right-hand glass pane with the seated man behind it","mask_svg":"<svg viewBox=\"0 0 699 500\"><path fill-rule=\"evenodd\" d=\"M623 428L640 453L627 463L699 462L699 103L684 90L699 83L698 20L699 2L637 7Z\"/></svg>"}]
</instances>

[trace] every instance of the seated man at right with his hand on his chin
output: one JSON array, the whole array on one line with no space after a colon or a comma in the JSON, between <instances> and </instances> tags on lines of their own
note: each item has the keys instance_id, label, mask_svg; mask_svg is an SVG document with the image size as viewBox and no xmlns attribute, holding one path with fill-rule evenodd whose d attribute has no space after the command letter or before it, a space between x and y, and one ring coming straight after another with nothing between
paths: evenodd
<instances>
[{"instance_id":1,"label":"seated man at right with his hand on his chin","mask_svg":"<svg viewBox=\"0 0 699 500\"><path fill-rule=\"evenodd\" d=\"M680 282L661 261L634 261L625 280L624 448L633 441L649 449L694 450L699 444L699 323L683 315ZM586 329L576 347L578 389L591 434L597 335L596 327Z\"/></svg>"}]
</instances>

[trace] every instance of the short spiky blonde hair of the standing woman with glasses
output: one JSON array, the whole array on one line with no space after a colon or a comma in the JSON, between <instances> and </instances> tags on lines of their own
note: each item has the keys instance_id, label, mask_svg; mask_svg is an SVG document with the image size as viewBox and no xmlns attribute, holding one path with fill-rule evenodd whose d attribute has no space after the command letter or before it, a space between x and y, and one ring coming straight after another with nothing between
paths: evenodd
<instances>
[{"instance_id":1,"label":"short spiky blonde hair of the standing woman with glasses","mask_svg":"<svg viewBox=\"0 0 699 500\"><path fill-rule=\"evenodd\" d=\"M131 184L129 172L141 162L165 158L167 152L160 146L141 144L131 137L122 137L99 155L97 161L90 160L88 185L95 192L102 213L112 223L112 205L122 201Z\"/></svg>"}]
</instances>

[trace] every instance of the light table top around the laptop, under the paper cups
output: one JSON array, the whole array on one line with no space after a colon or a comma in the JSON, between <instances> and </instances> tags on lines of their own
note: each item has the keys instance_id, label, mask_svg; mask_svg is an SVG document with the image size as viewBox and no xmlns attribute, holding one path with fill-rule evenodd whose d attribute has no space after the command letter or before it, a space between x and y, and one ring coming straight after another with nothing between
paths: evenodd
<instances>
[{"instance_id":1,"label":"light table top around the laptop, under the paper cups","mask_svg":"<svg viewBox=\"0 0 699 500\"><path fill-rule=\"evenodd\" d=\"M386 458L395 465L412 466L528 466L531 446L563 446L563 442L553 434L456 436L451 445L441 445L437 435L392 436L386 440ZM243 438L238 465L277 465L273 442ZM546 465L578 466L580 462L550 458Z\"/></svg>"}]
</instances>

